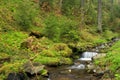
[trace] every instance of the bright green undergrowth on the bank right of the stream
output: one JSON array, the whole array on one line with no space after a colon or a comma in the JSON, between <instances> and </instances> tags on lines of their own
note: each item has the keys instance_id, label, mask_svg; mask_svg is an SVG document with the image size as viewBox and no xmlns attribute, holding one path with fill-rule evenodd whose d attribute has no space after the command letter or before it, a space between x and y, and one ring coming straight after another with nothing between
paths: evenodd
<instances>
[{"instance_id":1,"label":"bright green undergrowth on the bank right of the stream","mask_svg":"<svg viewBox=\"0 0 120 80\"><path fill-rule=\"evenodd\" d=\"M105 58L95 63L101 67L106 65L111 70L111 74L115 76L115 80L120 80L120 41L116 42L106 54Z\"/></svg>"}]
</instances>

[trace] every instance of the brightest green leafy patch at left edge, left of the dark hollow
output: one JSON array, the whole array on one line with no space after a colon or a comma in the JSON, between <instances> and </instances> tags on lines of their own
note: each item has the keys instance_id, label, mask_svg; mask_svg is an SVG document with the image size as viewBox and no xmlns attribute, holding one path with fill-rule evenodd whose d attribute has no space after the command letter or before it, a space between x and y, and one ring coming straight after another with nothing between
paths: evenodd
<instances>
[{"instance_id":1,"label":"brightest green leafy patch at left edge, left of the dark hollow","mask_svg":"<svg viewBox=\"0 0 120 80\"><path fill-rule=\"evenodd\" d=\"M19 48L20 43L27 38L27 34L18 31L9 31L6 33L1 33L1 43L6 46Z\"/></svg>"}]
</instances>

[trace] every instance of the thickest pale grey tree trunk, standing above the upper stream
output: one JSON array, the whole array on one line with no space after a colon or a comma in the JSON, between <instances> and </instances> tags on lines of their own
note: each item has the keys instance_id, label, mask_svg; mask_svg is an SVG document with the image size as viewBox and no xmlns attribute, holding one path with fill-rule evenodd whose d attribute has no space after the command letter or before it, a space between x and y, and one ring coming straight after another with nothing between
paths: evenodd
<instances>
[{"instance_id":1,"label":"thickest pale grey tree trunk, standing above the upper stream","mask_svg":"<svg viewBox=\"0 0 120 80\"><path fill-rule=\"evenodd\" d=\"M102 0L98 0L98 31L102 32Z\"/></svg>"}]
</instances>

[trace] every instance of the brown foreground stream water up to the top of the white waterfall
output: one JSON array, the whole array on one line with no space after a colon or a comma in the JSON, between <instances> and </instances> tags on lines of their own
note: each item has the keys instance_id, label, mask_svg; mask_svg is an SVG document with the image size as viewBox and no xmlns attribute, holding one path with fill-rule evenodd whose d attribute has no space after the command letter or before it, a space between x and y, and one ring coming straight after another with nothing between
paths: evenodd
<instances>
[{"instance_id":1,"label":"brown foreground stream water up to the top of the white waterfall","mask_svg":"<svg viewBox=\"0 0 120 80\"><path fill-rule=\"evenodd\" d=\"M50 68L49 80L98 80L85 69L86 61L92 61L92 57L97 54L96 52L84 52L82 57L74 62L74 65Z\"/></svg>"}]
</instances>

